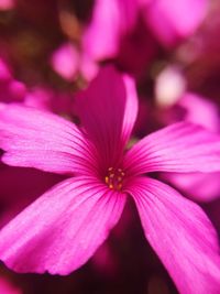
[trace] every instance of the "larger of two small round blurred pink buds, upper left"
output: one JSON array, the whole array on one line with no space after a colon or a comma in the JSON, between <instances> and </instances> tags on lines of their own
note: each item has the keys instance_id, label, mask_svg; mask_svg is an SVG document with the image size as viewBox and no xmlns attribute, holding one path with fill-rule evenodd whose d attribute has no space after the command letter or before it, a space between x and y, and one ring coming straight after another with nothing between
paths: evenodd
<instances>
[{"instance_id":1,"label":"larger of two small round blurred pink buds, upper left","mask_svg":"<svg viewBox=\"0 0 220 294\"><path fill-rule=\"evenodd\" d=\"M79 53L74 45L65 43L53 53L51 64L58 75L72 81L79 69Z\"/></svg>"}]
</instances>

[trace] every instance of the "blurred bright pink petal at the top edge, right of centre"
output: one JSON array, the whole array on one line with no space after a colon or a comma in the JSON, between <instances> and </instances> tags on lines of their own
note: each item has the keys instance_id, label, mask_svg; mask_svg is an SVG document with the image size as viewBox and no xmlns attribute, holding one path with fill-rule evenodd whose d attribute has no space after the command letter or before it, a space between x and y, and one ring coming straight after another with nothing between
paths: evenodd
<instances>
[{"instance_id":1,"label":"blurred bright pink petal at the top edge, right of centre","mask_svg":"<svg viewBox=\"0 0 220 294\"><path fill-rule=\"evenodd\" d=\"M145 20L165 46L193 34L207 12L207 0L154 0L145 9Z\"/></svg>"}]
</instances>

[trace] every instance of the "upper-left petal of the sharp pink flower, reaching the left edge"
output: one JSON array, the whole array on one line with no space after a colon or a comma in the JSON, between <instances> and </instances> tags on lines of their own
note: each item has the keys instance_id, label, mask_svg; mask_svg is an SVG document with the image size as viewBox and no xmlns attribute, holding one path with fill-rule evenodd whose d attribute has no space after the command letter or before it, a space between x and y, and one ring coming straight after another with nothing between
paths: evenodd
<instances>
[{"instance_id":1,"label":"upper-left petal of the sharp pink flower, reaching the left edge","mask_svg":"<svg viewBox=\"0 0 220 294\"><path fill-rule=\"evenodd\" d=\"M87 173L92 145L74 123L19 105L0 105L0 146L9 165L54 173Z\"/></svg>"}]
</instances>

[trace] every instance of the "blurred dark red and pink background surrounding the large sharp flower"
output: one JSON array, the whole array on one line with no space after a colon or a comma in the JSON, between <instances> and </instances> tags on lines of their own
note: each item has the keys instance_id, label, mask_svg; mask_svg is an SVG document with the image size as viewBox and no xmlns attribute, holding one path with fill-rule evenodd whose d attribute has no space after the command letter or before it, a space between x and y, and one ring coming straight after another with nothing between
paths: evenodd
<instances>
[{"instance_id":1,"label":"blurred dark red and pink background surrounding the large sharp flower","mask_svg":"<svg viewBox=\"0 0 220 294\"><path fill-rule=\"evenodd\" d=\"M113 63L136 81L133 141L179 120L219 132L219 0L0 0L0 101L77 122L75 92ZM220 232L219 173L154 176L199 203ZM0 226L58 181L0 163ZM128 202L107 242L68 276L18 274L0 265L0 294L48 293L177 291Z\"/></svg>"}]
</instances>

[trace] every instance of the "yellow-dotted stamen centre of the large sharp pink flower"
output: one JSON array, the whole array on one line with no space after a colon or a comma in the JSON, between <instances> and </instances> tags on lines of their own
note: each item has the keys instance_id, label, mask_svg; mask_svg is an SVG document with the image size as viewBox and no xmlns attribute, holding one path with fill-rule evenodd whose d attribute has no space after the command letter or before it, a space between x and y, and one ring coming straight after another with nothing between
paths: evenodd
<instances>
[{"instance_id":1,"label":"yellow-dotted stamen centre of the large sharp pink flower","mask_svg":"<svg viewBox=\"0 0 220 294\"><path fill-rule=\"evenodd\" d=\"M105 182L110 189L121 190L124 175L122 168L109 167Z\"/></svg>"}]
</instances>

